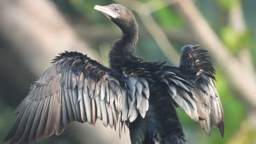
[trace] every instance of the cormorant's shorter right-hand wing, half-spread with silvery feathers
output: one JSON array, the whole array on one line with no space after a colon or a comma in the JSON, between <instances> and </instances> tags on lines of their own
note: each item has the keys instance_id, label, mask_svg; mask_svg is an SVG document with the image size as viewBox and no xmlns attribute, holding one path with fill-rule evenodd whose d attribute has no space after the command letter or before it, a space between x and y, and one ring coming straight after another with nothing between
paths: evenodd
<instances>
[{"instance_id":1,"label":"cormorant's shorter right-hand wing, half-spread with silvery feathers","mask_svg":"<svg viewBox=\"0 0 256 144\"><path fill-rule=\"evenodd\" d=\"M182 107L203 130L210 134L212 125L224 134L224 113L214 85L214 68L205 50L184 46L179 68L164 66L158 73L174 102Z\"/></svg>"}]
</instances>

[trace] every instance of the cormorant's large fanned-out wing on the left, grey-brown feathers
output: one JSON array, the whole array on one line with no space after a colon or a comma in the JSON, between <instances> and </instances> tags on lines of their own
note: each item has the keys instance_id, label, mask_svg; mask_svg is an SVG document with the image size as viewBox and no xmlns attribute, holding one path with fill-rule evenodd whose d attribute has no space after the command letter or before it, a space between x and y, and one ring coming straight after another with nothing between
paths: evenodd
<instances>
[{"instance_id":1,"label":"cormorant's large fanned-out wing on the left, grey-brown feathers","mask_svg":"<svg viewBox=\"0 0 256 144\"><path fill-rule=\"evenodd\" d=\"M14 111L18 116L4 141L31 143L60 135L73 121L95 124L97 118L116 128L130 113L144 115L148 108L142 99L148 93L147 82L137 75L122 76L82 53L64 52L32 84Z\"/></svg>"}]
</instances>

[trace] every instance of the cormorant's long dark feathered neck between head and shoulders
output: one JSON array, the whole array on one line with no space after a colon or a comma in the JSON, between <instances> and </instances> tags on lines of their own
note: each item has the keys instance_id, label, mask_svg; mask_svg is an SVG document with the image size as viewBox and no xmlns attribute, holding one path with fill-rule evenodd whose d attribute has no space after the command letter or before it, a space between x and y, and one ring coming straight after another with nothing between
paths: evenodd
<instances>
[{"instance_id":1,"label":"cormorant's long dark feathered neck between head and shoulders","mask_svg":"<svg viewBox=\"0 0 256 144\"><path fill-rule=\"evenodd\" d=\"M109 52L109 64L113 69L119 69L127 61L134 56L138 42L138 26L135 21L133 25L121 28L123 35L121 38L114 41L112 49Z\"/></svg>"}]
</instances>

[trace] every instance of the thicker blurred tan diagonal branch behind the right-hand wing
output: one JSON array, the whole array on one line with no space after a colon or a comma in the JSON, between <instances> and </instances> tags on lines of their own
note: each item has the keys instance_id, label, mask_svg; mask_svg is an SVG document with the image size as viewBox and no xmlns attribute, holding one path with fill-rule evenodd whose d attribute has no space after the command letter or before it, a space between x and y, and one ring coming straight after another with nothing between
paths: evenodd
<instances>
[{"instance_id":1,"label":"thicker blurred tan diagonal branch behind the right-hand wing","mask_svg":"<svg viewBox=\"0 0 256 144\"><path fill-rule=\"evenodd\" d=\"M256 109L256 77L254 72L231 55L193 2L183 0L177 3L176 7L179 13L184 16L191 32L199 39L199 43L210 52L212 59L222 68L231 86L246 103Z\"/></svg>"}]
</instances>

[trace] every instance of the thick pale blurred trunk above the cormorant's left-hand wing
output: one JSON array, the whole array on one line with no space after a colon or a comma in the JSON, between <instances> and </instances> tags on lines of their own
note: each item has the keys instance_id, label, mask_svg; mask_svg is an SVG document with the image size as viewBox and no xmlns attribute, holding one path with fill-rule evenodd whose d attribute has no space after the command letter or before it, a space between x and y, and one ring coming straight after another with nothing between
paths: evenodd
<instances>
[{"instance_id":1,"label":"thick pale blurred trunk above the cormorant's left-hand wing","mask_svg":"<svg viewBox=\"0 0 256 144\"><path fill-rule=\"evenodd\" d=\"M51 59L65 50L84 52L100 60L49 1L0 1L0 34L15 45L22 60L37 74L42 74Z\"/></svg>"}]
</instances>

